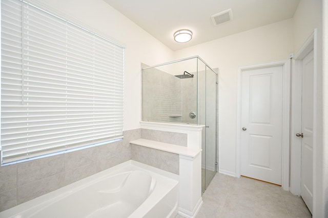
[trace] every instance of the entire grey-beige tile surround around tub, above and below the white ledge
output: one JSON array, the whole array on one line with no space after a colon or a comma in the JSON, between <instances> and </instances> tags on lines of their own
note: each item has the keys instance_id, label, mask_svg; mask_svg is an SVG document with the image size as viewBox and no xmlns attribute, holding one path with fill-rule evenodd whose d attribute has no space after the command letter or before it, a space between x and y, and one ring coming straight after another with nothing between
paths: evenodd
<instances>
[{"instance_id":1,"label":"entire grey-beige tile surround around tub, above and below the white ledge","mask_svg":"<svg viewBox=\"0 0 328 218\"><path fill-rule=\"evenodd\" d=\"M0 211L45 195L130 159L179 174L177 154L131 146L129 142L138 138L187 146L187 134L136 129L124 131L124 139L117 142L0 166Z\"/></svg>"}]
</instances>

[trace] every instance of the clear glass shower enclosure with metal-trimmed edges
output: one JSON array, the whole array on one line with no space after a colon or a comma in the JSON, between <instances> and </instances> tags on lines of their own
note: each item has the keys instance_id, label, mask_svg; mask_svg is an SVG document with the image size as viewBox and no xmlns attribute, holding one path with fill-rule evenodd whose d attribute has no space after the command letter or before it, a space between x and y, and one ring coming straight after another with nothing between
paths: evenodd
<instances>
[{"instance_id":1,"label":"clear glass shower enclosure with metal-trimmed edges","mask_svg":"<svg viewBox=\"0 0 328 218\"><path fill-rule=\"evenodd\" d=\"M202 192L217 167L217 79L198 56L142 68L142 121L205 126Z\"/></svg>"}]
</instances>

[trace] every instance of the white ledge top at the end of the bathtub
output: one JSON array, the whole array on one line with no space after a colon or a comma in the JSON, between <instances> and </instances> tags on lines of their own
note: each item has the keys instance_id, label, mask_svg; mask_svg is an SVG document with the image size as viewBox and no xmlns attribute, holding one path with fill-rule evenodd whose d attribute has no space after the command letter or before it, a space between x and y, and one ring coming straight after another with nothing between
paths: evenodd
<instances>
[{"instance_id":1,"label":"white ledge top at the end of the bathtub","mask_svg":"<svg viewBox=\"0 0 328 218\"><path fill-rule=\"evenodd\" d=\"M201 153L201 149L187 148L183 146L177 146L176 144L169 144L159 141L148 140L144 138L139 138L130 141L131 144L136 144L137 146L144 146L152 149L157 149L161 151L171 152L187 157L195 158Z\"/></svg>"}]
</instances>

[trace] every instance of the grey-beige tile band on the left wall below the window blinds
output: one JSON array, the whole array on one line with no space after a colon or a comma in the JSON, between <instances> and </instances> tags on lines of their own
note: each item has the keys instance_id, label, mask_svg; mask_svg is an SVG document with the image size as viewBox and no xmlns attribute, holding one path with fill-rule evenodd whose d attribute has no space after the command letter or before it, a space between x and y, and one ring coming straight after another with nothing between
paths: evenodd
<instances>
[{"instance_id":1,"label":"grey-beige tile band on the left wall below the window blinds","mask_svg":"<svg viewBox=\"0 0 328 218\"><path fill-rule=\"evenodd\" d=\"M0 166L0 211L130 160L129 142L140 136L124 131L123 140L103 146Z\"/></svg>"}]
</instances>

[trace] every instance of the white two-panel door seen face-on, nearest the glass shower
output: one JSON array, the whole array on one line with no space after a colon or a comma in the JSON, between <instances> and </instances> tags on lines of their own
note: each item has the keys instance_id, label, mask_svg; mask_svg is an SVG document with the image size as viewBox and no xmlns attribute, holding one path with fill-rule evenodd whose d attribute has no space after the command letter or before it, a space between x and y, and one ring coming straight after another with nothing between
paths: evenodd
<instances>
[{"instance_id":1,"label":"white two-panel door seen face-on, nearest the glass shower","mask_svg":"<svg viewBox=\"0 0 328 218\"><path fill-rule=\"evenodd\" d=\"M240 173L281 184L283 66L241 72Z\"/></svg>"}]
</instances>

